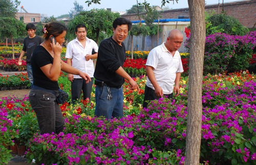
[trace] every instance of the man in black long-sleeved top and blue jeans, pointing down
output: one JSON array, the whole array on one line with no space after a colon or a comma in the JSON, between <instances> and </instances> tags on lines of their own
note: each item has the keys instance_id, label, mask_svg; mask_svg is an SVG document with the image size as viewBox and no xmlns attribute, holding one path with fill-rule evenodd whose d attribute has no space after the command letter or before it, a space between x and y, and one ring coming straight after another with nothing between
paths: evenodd
<instances>
[{"instance_id":1,"label":"man in black long-sleeved top and blue jeans, pointing down","mask_svg":"<svg viewBox=\"0 0 256 165\"><path fill-rule=\"evenodd\" d=\"M125 47L122 43L131 29L132 22L125 18L116 18L113 22L113 36L99 45L95 77L95 115L107 119L123 116L124 78L131 89L139 90L138 84L127 74L122 66L125 61Z\"/></svg>"}]
</instances>

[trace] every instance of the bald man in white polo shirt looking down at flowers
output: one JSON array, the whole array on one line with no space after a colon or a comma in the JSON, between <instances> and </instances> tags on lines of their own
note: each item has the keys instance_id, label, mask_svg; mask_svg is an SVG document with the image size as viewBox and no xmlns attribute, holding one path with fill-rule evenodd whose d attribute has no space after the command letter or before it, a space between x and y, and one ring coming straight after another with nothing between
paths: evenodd
<instances>
[{"instance_id":1,"label":"bald man in white polo shirt looking down at flowers","mask_svg":"<svg viewBox=\"0 0 256 165\"><path fill-rule=\"evenodd\" d=\"M178 49L182 42L182 33L173 29L169 32L166 42L148 54L143 108L147 107L146 101L161 97L173 98L173 90L175 97L180 94L179 82L183 67Z\"/></svg>"}]
</instances>

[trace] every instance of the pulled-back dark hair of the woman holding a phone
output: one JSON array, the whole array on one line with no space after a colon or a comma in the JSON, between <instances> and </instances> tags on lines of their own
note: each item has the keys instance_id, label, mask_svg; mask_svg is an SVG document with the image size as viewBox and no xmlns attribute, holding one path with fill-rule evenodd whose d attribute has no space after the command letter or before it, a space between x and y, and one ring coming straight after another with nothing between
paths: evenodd
<instances>
[{"instance_id":1,"label":"pulled-back dark hair of the woman holding a phone","mask_svg":"<svg viewBox=\"0 0 256 165\"><path fill-rule=\"evenodd\" d=\"M57 37L61 35L64 31L68 31L68 28L65 24L59 22L51 22L49 24L46 24L42 29L42 33L44 33L44 36L42 37L48 40L51 35L53 37Z\"/></svg>"}]
</instances>

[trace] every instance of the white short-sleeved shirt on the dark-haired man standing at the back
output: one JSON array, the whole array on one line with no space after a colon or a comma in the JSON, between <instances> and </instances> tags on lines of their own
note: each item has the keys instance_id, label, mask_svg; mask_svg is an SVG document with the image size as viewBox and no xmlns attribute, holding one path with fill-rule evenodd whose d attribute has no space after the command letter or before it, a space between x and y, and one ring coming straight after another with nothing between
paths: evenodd
<instances>
[{"instance_id":1,"label":"white short-sleeved shirt on the dark-haired man standing at the back","mask_svg":"<svg viewBox=\"0 0 256 165\"><path fill-rule=\"evenodd\" d=\"M93 77L94 64L93 60L86 61L86 54L92 54L92 50L98 52L98 45L95 41L86 37L86 47L83 47L78 39L70 41L67 45L66 59L72 59L72 67L87 73ZM74 78L82 78L79 75L74 75Z\"/></svg>"}]
</instances>

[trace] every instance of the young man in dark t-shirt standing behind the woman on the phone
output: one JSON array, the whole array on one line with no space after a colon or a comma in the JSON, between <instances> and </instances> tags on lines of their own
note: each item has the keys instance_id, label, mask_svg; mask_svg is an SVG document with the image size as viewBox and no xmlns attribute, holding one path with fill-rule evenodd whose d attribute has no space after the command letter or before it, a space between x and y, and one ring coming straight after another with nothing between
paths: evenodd
<instances>
[{"instance_id":1,"label":"young man in dark t-shirt standing behind the woman on the phone","mask_svg":"<svg viewBox=\"0 0 256 165\"><path fill-rule=\"evenodd\" d=\"M28 23L26 25L26 31L28 32L28 37L24 39L24 45L22 52L20 53L19 59L18 59L18 65L22 65L22 58L27 53L26 57L26 63L27 63L27 72L28 72L28 78L31 84L31 87L33 86L33 74L32 74L32 67L31 67L31 55L40 43L44 42L44 39L42 39L39 36L35 35L36 27L32 23Z\"/></svg>"}]
</instances>

